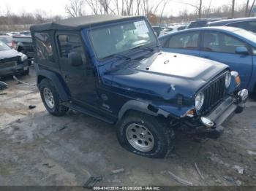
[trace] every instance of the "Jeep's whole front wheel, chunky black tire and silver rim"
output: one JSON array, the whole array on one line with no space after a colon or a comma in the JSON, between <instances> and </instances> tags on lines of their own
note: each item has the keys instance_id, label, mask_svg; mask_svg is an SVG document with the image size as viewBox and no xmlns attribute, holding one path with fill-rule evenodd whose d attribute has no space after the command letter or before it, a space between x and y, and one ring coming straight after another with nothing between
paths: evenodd
<instances>
[{"instance_id":1,"label":"Jeep's whole front wheel, chunky black tire and silver rim","mask_svg":"<svg viewBox=\"0 0 256 191\"><path fill-rule=\"evenodd\" d=\"M164 158L173 150L173 128L148 114L127 114L118 123L117 137L122 147L144 157Z\"/></svg>"}]
</instances>

